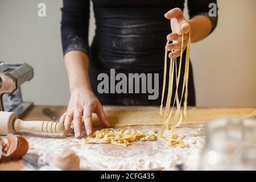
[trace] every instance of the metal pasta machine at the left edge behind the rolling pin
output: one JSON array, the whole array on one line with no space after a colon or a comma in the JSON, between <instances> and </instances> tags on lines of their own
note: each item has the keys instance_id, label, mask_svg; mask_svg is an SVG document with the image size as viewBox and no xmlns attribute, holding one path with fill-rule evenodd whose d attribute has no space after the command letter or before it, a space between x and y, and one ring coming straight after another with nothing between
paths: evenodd
<instances>
[{"instance_id":1,"label":"metal pasta machine at the left edge behind the rolling pin","mask_svg":"<svg viewBox=\"0 0 256 182\"><path fill-rule=\"evenodd\" d=\"M34 70L26 63L0 62L0 111L14 112L22 117L33 106L23 102L20 86L34 77Z\"/></svg>"}]
</instances>

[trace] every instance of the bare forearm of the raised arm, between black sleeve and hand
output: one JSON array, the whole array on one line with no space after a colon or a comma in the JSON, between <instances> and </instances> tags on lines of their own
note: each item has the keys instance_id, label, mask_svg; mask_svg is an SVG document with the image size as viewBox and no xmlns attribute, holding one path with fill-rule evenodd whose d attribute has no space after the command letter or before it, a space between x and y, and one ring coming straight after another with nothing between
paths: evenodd
<instances>
[{"instance_id":1,"label":"bare forearm of the raised arm, between black sleeve and hand","mask_svg":"<svg viewBox=\"0 0 256 182\"><path fill-rule=\"evenodd\" d=\"M188 22L191 26L191 42L198 42L206 38L210 34L210 30L212 30L212 23L205 16L194 16Z\"/></svg>"}]
</instances>

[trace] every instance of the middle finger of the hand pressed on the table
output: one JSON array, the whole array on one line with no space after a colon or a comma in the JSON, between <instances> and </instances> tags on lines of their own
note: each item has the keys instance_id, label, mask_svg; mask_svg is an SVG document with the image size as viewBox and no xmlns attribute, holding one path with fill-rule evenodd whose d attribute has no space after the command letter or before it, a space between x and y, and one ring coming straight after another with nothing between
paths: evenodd
<instances>
[{"instance_id":1,"label":"middle finger of the hand pressed on the table","mask_svg":"<svg viewBox=\"0 0 256 182\"><path fill-rule=\"evenodd\" d=\"M82 109L81 107L76 107L74 111L74 130L75 137L80 139L82 137Z\"/></svg>"}]
</instances>

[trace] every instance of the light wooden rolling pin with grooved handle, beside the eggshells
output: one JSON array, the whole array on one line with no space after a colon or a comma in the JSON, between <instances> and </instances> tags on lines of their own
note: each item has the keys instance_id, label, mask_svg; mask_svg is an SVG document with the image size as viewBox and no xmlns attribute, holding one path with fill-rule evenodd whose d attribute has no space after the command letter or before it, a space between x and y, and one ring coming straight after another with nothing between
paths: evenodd
<instances>
[{"instance_id":1,"label":"light wooden rolling pin with grooved handle, beside the eggshells","mask_svg":"<svg viewBox=\"0 0 256 182\"><path fill-rule=\"evenodd\" d=\"M14 134L19 130L63 133L64 126L52 121L22 121L15 113L0 111L0 135Z\"/></svg>"}]
</instances>

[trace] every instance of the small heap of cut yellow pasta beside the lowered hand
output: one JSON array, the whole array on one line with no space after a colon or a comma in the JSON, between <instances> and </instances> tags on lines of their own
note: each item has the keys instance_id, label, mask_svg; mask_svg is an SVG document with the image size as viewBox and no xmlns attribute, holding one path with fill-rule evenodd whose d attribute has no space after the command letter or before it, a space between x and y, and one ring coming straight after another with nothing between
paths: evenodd
<instances>
[{"instance_id":1,"label":"small heap of cut yellow pasta beside the lowered hand","mask_svg":"<svg viewBox=\"0 0 256 182\"><path fill-rule=\"evenodd\" d=\"M156 140L155 134L143 134L141 131L135 129L102 129L95 131L89 137L93 137L94 140L86 140L83 138L84 143L112 143L124 147L130 145L130 142L139 139L142 141Z\"/></svg>"}]
</instances>

